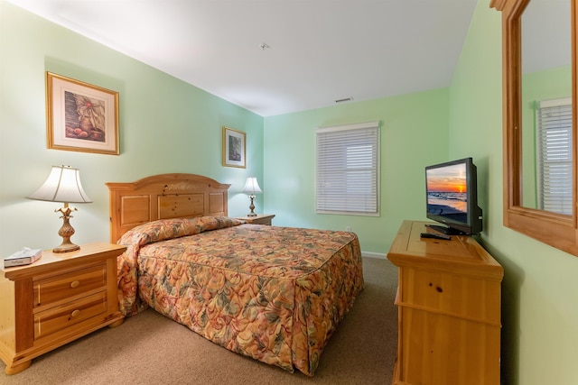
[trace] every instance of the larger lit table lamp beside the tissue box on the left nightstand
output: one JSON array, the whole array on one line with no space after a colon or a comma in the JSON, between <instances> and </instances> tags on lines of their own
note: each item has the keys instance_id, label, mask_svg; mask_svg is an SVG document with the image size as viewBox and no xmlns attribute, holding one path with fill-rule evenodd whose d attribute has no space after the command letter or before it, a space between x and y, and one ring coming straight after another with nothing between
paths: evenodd
<instances>
[{"instance_id":1,"label":"larger lit table lamp beside the tissue box on the left nightstand","mask_svg":"<svg viewBox=\"0 0 578 385\"><path fill-rule=\"evenodd\" d=\"M70 237L74 234L74 228L70 225L70 218L72 217L70 213L77 211L77 208L70 207L69 204L92 202L80 183L80 171L69 166L52 166L48 179L28 197L49 202L62 202L64 204L64 207L54 210L55 213L59 211L62 213L61 218L64 223L58 232L62 237L62 243L52 249L52 252L79 250L79 245L70 242Z\"/></svg>"}]
</instances>

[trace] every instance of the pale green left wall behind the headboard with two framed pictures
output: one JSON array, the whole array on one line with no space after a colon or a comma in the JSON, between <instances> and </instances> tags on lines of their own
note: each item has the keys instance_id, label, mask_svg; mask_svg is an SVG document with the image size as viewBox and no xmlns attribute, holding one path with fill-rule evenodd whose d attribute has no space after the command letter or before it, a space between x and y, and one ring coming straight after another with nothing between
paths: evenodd
<instances>
[{"instance_id":1,"label":"pale green left wall behind the headboard with two framed pictures","mask_svg":"<svg viewBox=\"0 0 578 385\"><path fill-rule=\"evenodd\" d=\"M0 255L58 245L58 204L26 199L52 165L79 168L94 203L78 205L75 243L109 238L105 182L191 172L230 183L244 215L247 176L263 180L263 118L0 1ZM45 71L119 92L120 156L47 150ZM221 127L247 133L247 169L221 166ZM262 205L257 196L256 205Z\"/></svg>"}]
</instances>

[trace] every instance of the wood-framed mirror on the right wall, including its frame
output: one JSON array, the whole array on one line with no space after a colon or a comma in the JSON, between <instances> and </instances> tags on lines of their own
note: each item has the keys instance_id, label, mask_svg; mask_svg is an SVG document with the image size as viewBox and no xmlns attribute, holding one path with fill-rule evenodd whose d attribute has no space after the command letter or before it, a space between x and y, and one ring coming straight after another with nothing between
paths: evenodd
<instances>
[{"instance_id":1,"label":"wood-framed mirror on the right wall, including its frame","mask_svg":"<svg viewBox=\"0 0 578 385\"><path fill-rule=\"evenodd\" d=\"M578 255L576 1L491 0L489 5L502 12L504 225L573 255ZM558 12L563 12L564 16L555 16L556 8L561 8ZM534 24L543 25L544 29ZM554 31L556 37L549 34ZM563 50L565 53L561 55L551 50L546 53L546 49L564 46L570 48ZM569 56L564 59L564 55ZM551 67L545 59L557 62ZM555 80L551 78L553 73ZM546 79L545 75L550 78ZM559 86L556 90L555 84ZM571 159L568 167L571 180L569 195L566 195L568 212L561 214L543 209L540 203L538 186L541 182L536 172L539 169L536 160L540 160L540 156L536 156L536 102L564 97L568 91L572 117L568 129L572 138L567 151Z\"/></svg>"}]
</instances>

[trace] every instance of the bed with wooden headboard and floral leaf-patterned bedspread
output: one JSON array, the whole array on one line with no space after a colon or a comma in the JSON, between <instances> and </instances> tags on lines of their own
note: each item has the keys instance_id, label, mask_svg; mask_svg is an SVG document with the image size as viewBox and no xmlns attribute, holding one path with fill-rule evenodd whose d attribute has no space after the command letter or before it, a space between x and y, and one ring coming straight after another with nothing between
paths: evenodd
<instances>
[{"instance_id":1,"label":"bed with wooden headboard and floral leaf-patterned bedspread","mask_svg":"<svg viewBox=\"0 0 578 385\"><path fill-rule=\"evenodd\" d=\"M313 376L363 289L353 233L248 225L193 174L107 183L120 311L147 307L230 351Z\"/></svg>"}]
</instances>

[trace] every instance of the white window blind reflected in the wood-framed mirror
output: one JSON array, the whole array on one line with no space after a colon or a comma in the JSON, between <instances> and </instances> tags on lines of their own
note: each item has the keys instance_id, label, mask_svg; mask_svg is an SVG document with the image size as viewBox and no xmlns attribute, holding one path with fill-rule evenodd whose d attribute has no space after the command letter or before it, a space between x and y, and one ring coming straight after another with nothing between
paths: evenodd
<instances>
[{"instance_id":1,"label":"white window blind reflected in the wood-framed mirror","mask_svg":"<svg viewBox=\"0 0 578 385\"><path fill-rule=\"evenodd\" d=\"M539 102L536 109L539 208L572 215L572 99Z\"/></svg>"}]
</instances>

